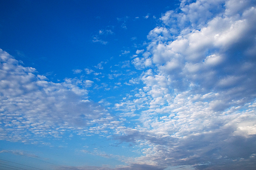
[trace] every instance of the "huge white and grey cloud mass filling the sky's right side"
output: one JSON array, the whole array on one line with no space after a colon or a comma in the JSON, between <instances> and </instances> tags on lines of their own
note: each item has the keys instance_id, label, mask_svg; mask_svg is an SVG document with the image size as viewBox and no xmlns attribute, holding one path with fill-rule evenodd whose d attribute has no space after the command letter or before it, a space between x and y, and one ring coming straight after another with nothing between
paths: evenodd
<instances>
[{"instance_id":1,"label":"huge white and grey cloud mass filling the sky's right side","mask_svg":"<svg viewBox=\"0 0 256 170\"><path fill-rule=\"evenodd\" d=\"M254 0L183 0L162 15L133 59L144 87L115 105L140 113L116 137L145 147L137 163L255 168L255 16Z\"/></svg>"}]
</instances>

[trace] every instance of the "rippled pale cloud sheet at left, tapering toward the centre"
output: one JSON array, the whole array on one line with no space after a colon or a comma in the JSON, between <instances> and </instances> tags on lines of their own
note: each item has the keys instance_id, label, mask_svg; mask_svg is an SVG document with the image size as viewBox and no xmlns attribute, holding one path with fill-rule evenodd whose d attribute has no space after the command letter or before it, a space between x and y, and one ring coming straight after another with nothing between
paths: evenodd
<instances>
[{"instance_id":1,"label":"rippled pale cloud sheet at left, tapering toward the centre","mask_svg":"<svg viewBox=\"0 0 256 170\"><path fill-rule=\"evenodd\" d=\"M1 50L1 140L31 143L39 137L61 138L65 129L89 127L104 118L111 120L103 108L87 100L86 87L92 83L78 79L49 82L34 68L23 67Z\"/></svg>"}]
</instances>

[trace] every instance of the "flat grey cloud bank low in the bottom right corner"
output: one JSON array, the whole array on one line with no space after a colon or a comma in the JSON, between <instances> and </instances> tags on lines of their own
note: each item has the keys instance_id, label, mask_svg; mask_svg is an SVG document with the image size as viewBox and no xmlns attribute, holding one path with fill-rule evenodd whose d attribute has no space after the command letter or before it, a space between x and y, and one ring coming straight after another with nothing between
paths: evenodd
<instances>
[{"instance_id":1,"label":"flat grey cloud bank low in the bottom right corner","mask_svg":"<svg viewBox=\"0 0 256 170\"><path fill-rule=\"evenodd\" d=\"M144 150L145 156L136 158L140 162L148 160L153 161L160 166L181 166L195 165L195 169L212 170L240 170L242 164L248 170L253 170L255 163L254 150L255 135L250 137L230 136L227 128L226 131L216 131L214 133L206 133L200 135L190 135L180 140L172 140L169 138L158 138L158 142L149 140L151 145ZM138 134L134 137L144 138ZM126 136L126 142L132 142L131 135ZM159 141L162 140L161 143ZM163 143L164 141L164 143ZM138 143L139 145L140 143ZM242 144L242 145L241 145ZM237 167L235 167L235 163ZM239 165L240 164L240 165Z\"/></svg>"}]
</instances>

